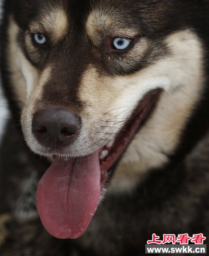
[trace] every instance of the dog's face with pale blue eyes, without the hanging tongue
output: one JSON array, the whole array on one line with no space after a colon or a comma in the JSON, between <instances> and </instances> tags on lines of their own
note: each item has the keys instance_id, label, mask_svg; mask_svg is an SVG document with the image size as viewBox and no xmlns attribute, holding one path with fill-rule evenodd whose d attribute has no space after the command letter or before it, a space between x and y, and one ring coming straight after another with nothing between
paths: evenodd
<instances>
[{"instance_id":1,"label":"dog's face with pale blue eyes, without the hanging tongue","mask_svg":"<svg viewBox=\"0 0 209 256\"><path fill-rule=\"evenodd\" d=\"M7 51L31 150L94 155L103 176L122 156L116 191L167 163L203 84L202 43L179 8L176 1L15 1Z\"/></svg>"}]
</instances>

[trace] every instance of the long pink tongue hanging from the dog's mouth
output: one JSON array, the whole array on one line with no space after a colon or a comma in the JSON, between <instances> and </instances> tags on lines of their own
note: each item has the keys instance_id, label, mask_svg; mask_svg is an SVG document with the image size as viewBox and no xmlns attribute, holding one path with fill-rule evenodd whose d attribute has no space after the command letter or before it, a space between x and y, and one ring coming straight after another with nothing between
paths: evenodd
<instances>
[{"instance_id":1,"label":"long pink tongue hanging from the dog's mouth","mask_svg":"<svg viewBox=\"0 0 209 256\"><path fill-rule=\"evenodd\" d=\"M61 239L82 236L99 198L98 153L67 161L56 158L41 178L36 194L37 209L45 229Z\"/></svg>"}]
</instances>

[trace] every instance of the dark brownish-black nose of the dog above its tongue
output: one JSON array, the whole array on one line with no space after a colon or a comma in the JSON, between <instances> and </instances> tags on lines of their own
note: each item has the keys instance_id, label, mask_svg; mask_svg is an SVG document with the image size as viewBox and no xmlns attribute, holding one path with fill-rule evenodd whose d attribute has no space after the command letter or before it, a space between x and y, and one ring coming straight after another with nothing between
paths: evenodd
<instances>
[{"instance_id":1,"label":"dark brownish-black nose of the dog above its tongue","mask_svg":"<svg viewBox=\"0 0 209 256\"><path fill-rule=\"evenodd\" d=\"M79 130L79 117L64 109L42 109L33 116L33 134L39 143L46 147L69 145Z\"/></svg>"}]
</instances>

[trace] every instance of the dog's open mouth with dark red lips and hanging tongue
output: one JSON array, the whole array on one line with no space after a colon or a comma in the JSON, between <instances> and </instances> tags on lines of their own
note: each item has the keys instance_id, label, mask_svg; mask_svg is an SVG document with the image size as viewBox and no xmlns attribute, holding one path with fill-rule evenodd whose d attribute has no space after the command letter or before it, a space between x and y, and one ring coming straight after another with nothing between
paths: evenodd
<instances>
[{"instance_id":1,"label":"dog's open mouth with dark red lips and hanging tongue","mask_svg":"<svg viewBox=\"0 0 209 256\"><path fill-rule=\"evenodd\" d=\"M83 158L55 161L37 187L37 209L46 230L54 237L82 236L98 207L112 166L151 113L161 90L149 92L137 106L112 145Z\"/></svg>"}]
</instances>

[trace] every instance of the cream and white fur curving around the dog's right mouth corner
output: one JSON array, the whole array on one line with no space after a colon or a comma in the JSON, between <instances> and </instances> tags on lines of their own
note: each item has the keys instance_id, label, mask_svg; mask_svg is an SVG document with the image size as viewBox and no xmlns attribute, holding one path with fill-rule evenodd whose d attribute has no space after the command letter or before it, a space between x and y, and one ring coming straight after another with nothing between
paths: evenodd
<instances>
[{"instance_id":1,"label":"cream and white fur curving around the dog's right mouth corner","mask_svg":"<svg viewBox=\"0 0 209 256\"><path fill-rule=\"evenodd\" d=\"M90 131L93 123L98 123L93 137L100 132L114 134L115 129L121 127L120 121L129 116L132 106L143 95L158 87L164 89L152 116L119 162L111 183L112 191L132 190L144 172L169 161L202 96L203 50L197 35L182 30L169 35L164 44L170 54L133 75L101 78L89 67L83 76L79 94L82 101L89 103L84 113L89 120L85 130ZM108 117L104 113L108 113ZM99 126L101 119L107 120L109 128Z\"/></svg>"}]
</instances>

